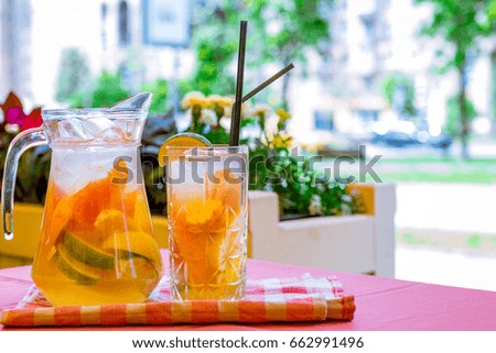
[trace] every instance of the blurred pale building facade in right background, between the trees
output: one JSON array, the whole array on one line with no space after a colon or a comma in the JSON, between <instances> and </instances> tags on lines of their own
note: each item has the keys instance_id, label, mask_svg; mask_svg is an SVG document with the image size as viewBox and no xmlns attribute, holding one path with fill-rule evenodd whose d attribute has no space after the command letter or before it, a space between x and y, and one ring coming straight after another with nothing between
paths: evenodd
<instances>
[{"instance_id":1,"label":"blurred pale building facade in right background, between the trees","mask_svg":"<svg viewBox=\"0 0 496 353\"><path fill-rule=\"evenodd\" d=\"M429 5L413 0L335 0L330 15L331 44L324 59L314 57L311 79L293 87L294 133L333 130L355 135L374 125L395 125L411 121L438 134L446 119L446 100L457 90L454 73L440 76L436 51L443 41L421 36L431 16ZM490 45L473 57L468 98L482 119L493 115ZM449 49L449 48L448 48ZM385 99L381 85L388 76L406 76L414 89L413 117L405 117ZM399 92L401 93L401 92ZM398 100L405 99L399 95ZM309 109L309 106L312 109Z\"/></svg>"}]
</instances>

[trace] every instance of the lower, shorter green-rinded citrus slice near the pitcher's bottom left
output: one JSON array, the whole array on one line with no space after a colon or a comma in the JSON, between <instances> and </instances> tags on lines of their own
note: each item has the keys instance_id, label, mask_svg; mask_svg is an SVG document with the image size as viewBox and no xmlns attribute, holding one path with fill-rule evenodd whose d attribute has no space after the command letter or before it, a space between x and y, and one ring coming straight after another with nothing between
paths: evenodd
<instances>
[{"instance_id":1,"label":"lower, shorter green-rinded citrus slice near the pitcher's bottom left","mask_svg":"<svg viewBox=\"0 0 496 353\"><path fill-rule=\"evenodd\" d=\"M64 246L56 245L55 247L55 261L64 275L85 286L94 285L100 279L97 269L72 258Z\"/></svg>"}]
</instances>

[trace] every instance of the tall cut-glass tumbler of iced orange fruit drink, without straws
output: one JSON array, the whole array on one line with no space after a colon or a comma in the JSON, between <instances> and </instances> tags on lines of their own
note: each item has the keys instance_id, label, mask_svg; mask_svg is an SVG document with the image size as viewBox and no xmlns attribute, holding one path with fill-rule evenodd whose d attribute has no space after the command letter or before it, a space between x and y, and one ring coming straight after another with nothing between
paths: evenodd
<instances>
[{"instance_id":1,"label":"tall cut-glass tumbler of iced orange fruit drink, without straws","mask_svg":"<svg viewBox=\"0 0 496 353\"><path fill-rule=\"evenodd\" d=\"M165 150L173 298L242 298L247 232L246 146L169 146Z\"/></svg>"}]
</instances>

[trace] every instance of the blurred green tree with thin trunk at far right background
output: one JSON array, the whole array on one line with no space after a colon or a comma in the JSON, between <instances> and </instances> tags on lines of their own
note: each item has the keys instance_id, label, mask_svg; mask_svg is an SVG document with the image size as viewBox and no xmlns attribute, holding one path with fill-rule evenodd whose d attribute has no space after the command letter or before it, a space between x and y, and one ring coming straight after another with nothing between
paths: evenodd
<instances>
[{"instance_id":1,"label":"blurred green tree with thin trunk at far right background","mask_svg":"<svg viewBox=\"0 0 496 353\"><path fill-rule=\"evenodd\" d=\"M452 51L442 52L445 57L442 73L454 68L459 76L460 131L457 136L462 142L462 157L468 158L470 114L466 104L468 58L477 52L477 40L495 30L495 22L490 20L494 0L416 1L431 3L433 8L432 19L425 24L423 32L430 36L441 36L452 46Z\"/></svg>"}]
</instances>

